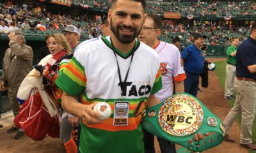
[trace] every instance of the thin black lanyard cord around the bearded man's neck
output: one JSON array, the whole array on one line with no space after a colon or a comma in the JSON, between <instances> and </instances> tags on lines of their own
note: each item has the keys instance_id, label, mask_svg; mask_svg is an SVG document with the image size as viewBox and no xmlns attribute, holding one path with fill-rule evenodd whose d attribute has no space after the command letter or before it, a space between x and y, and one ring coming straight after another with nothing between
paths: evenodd
<instances>
[{"instance_id":1,"label":"thin black lanyard cord around the bearded man's neck","mask_svg":"<svg viewBox=\"0 0 256 153\"><path fill-rule=\"evenodd\" d=\"M113 44L113 41L112 41L112 39L110 38L110 41L111 41L111 45L112 45L112 47L113 47L113 53L114 53L114 55L115 55L115 57L116 57L116 52L115 52L115 47L114 47L114 44ZM118 64L118 61L117 61L117 58L116 58L116 64L117 64L117 69L118 69L118 77L119 77L119 84L120 84L120 88L121 88L121 91L122 91L122 93L121 93L121 96L124 96L125 94L124 94L124 87L126 87L126 80L127 80L127 77L128 77L128 74L129 74L129 70L130 70L130 66L131 66L131 63L132 63L132 59L133 59L133 55L134 55L134 52L135 52L135 45L136 45L136 41L135 41L135 43L134 43L134 46L133 46L133 48L132 48L132 55L131 55L131 62L130 62L130 64L129 64L129 68L128 68L128 70L127 70L127 72L126 72L126 75L125 75L125 78L124 78L124 82L122 82L122 77L121 77L121 72L120 72L120 66L119 66L119 64Z\"/></svg>"}]
</instances>

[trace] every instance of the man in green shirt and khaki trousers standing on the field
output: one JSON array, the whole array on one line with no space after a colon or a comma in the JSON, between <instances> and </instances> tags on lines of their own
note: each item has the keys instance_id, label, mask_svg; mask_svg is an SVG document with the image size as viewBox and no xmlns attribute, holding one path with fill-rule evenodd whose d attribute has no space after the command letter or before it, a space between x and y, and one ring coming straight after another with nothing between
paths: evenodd
<instances>
[{"instance_id":1,"label":"man in green shirt and khaki trousers standing on the field","mask_svg":"<svg viewBox=\"0 0 256 153\"><path fill-rule=\"evenodd\" d=\"M231 39L231 46L227 48L227 66L225 80L225 99L230 100L236 98L234 94L234 80L236 77L236 50L239 45L239 39L234 37Z\"/></svg>"}]
</instances>

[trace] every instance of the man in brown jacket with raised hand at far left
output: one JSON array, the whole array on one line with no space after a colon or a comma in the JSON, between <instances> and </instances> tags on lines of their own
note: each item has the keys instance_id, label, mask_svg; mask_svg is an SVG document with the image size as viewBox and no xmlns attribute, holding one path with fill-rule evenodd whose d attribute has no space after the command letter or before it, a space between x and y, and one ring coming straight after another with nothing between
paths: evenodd
<instances>
[{"instance_id":1,"label":"man in brown jacket with raised hand at far left","mask_svg":"<svg viewBox=\"0 0 256 153\"><path fill-rule=\"evenodd\" d=\"M24 34L20 30L14 30L8 34L10 40L9 46L4 54L3 73L0 77L0 90L4 91L8 82L8 98L12 107L13 114L16 116L19 113L19 104L16 99L17 92L22 80L32 69L33 50L26 45ZM25 136L24 132L13 126L7 130L7 133L15 133L15 139Z\"/></svg>"}]
</instances>

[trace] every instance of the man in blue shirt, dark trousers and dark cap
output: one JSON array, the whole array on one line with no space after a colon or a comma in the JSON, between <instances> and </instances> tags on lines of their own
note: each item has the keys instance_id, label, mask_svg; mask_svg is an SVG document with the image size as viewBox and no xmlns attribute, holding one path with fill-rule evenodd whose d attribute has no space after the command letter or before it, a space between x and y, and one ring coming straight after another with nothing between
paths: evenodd
<instances>
[{"instance_id":1,"label":"man in blue shirt, dark trousers and dark cap","mask_svg":"<svg viewBox=\"0 0 256 153\"><path fill-rule=\"evenodd\" d=\"M186 80L184 80L185 92L196 97L199 85L199 76L204 70L205 59L201 47L204 45L204 38L200 33L194 36L194 43L184 48L181 57L184 61Z\"/></svg>"}]
</instances>

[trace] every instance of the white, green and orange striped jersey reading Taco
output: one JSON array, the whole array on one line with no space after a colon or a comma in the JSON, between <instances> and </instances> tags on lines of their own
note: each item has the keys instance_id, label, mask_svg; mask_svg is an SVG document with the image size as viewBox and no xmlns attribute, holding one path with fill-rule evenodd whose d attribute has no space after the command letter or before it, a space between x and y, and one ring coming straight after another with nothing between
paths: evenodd
<instances>
[{"instance_id":1,"label":"white, green and orange striped jersey reading Taco","mask_svg":"<svg viewBox=\"0 0 256 153\"><path fill-rule=\"evenodd\" d=\"M111 116L101 124L87 125L82 121L81 152L144 152L141 115L134 117L133 113L140 101L147 101L150 94L162 87L159 57L152 48L138 40L134 50L127 54L112 48L109 37L77 48L56 84L70 95L81 95L84 105L105 101L111 106ZM122 82L129 69L122 98L116 60ZM127 115L128 125L115 126L115 103L120 101L129 105L129 110L121 114Z\"/></svg>"}]
</instances>

